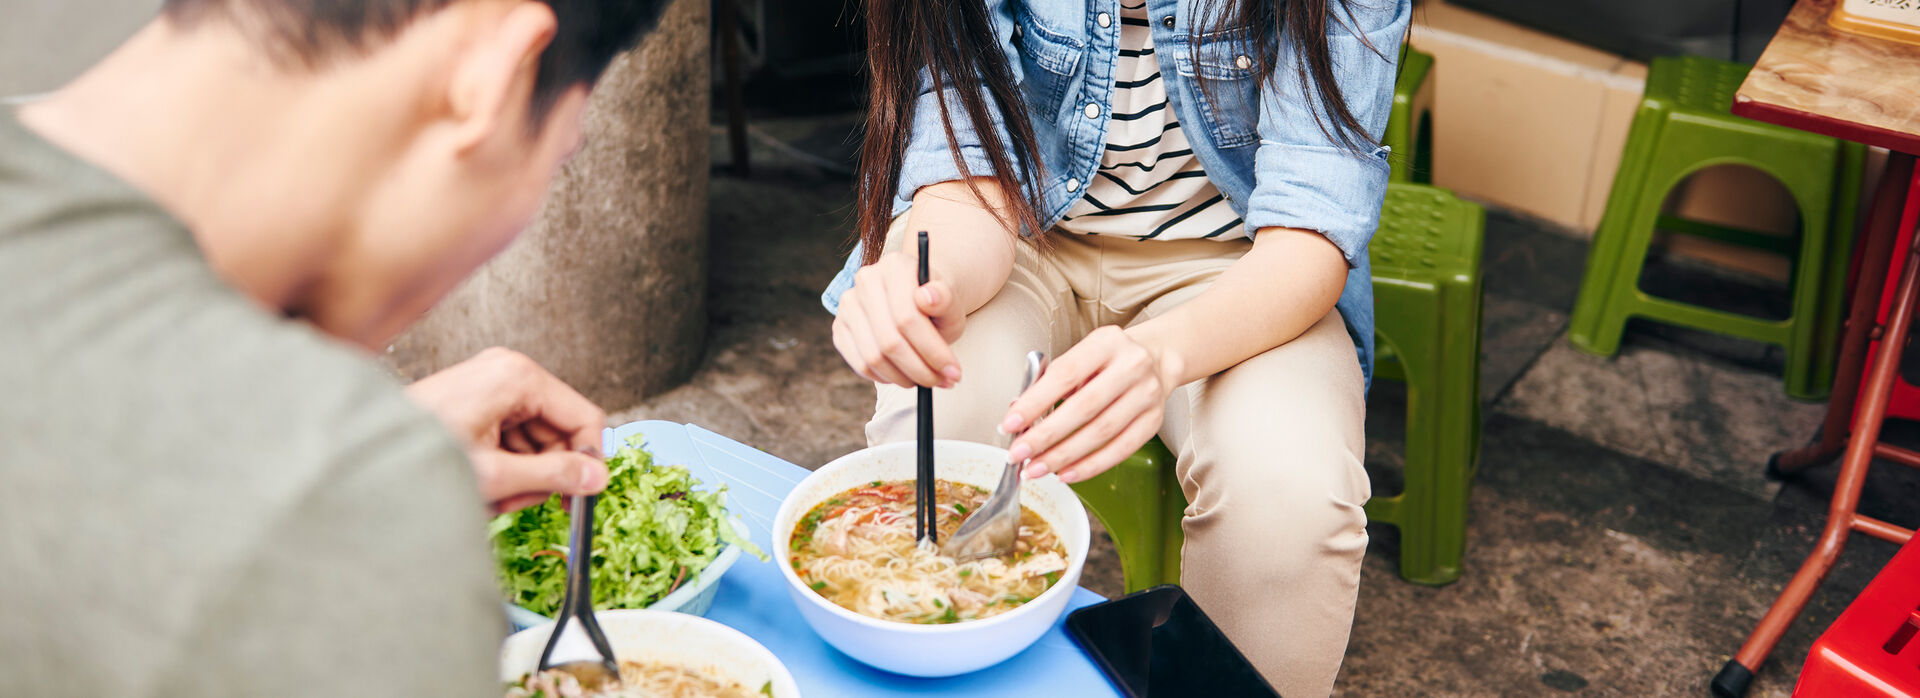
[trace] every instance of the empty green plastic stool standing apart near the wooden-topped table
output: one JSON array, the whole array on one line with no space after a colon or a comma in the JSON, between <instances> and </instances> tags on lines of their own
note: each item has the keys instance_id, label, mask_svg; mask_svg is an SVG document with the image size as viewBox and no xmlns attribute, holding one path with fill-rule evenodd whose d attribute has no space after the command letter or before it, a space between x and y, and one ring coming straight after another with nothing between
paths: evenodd
<instances>
[{"instance_id":1,"label":"empty green plastic stool standing apart near the wooden-topped table","mask_svg":"<svg viewBox=\"0 0 1920 698\"><path fill-rule=\"evenodd\" d=\"M1745 77L1747 65L1711 58L1653 59L1607 211L1594 232L1567 339L1611 357L1620 351L1626 320L1642 316L1766 341L1786 347L1786 393L1824 399L1834 384L1862 148L1732 115L1728 107ZM1661 213L1667 192L1715 165L1753 167L1786 186L1799 205L1799 234L1764 236ZM1791 314L1753 318L1642 291L1640 270L1655 230L1789 257Z\"/></svg>"}]
</instances>

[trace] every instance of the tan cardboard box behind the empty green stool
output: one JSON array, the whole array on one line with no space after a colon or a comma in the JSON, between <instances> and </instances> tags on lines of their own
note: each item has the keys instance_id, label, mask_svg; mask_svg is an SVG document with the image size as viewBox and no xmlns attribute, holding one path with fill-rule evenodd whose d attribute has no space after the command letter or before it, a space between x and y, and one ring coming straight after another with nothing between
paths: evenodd
<instances>
[{"instance_id":1,"label":"tan cardboard box behind the empty green stool","mask_svg":"<svg viewBox=\"0 0 1920 698\"><path fill-rule=\"evenodd\" d=\"M1434 54L1434 184L1574 234L1599 226L1647 65L1428 0L1409 40ZM1741 167L1695 173L1668 194L1682 217L1789 234L1791 199ZM1674 236L1668 253L1780 278L1786 259Z\"/></svg>"}]
</instances>

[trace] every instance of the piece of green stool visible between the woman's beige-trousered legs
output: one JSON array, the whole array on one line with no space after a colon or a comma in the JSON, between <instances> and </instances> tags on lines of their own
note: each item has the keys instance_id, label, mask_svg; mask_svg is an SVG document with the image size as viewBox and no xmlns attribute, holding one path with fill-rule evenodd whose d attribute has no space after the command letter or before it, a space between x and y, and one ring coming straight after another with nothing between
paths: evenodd
<instances>
[{"instance_id":1,"label":"piece of green stool visible between the woman's beige-trousered legs","mask_svg":"<svg viewBox=\"0 0 1920 698\"><path fill-rule=\"evenodd\" d=\"M1114 537L1127 593L1181 579L1187 495L1173 477L1173 453L1158 437L1073 491Z\"/></svg>"}]
</instances>

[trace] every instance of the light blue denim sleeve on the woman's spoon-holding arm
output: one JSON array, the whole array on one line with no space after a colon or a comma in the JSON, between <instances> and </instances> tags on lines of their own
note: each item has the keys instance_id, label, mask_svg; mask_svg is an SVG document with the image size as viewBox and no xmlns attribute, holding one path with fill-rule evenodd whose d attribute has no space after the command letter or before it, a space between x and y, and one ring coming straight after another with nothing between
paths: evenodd
<instances>
[{"instance_id":1,"label":"light blue denim sleeve on the woman's spoon-holding arm","mask_svg":"<svg viewBox=\"0 0 1920 698\"><path fill-rule=\"evenodd\" d=\"M1352 17L1340 15L1338 4L1331 6L1327 44L1334 81L1348 109L1379 140L1394 107L1400 40L1413 15L1411 0L1354 0ZM1356 153L1321 130L1323 123L1329 130L1336 128L1334 119L1302 90L1298 71L1300 59L1288 42L1281 46L1273 88L1261 90L1246 228L1317 230L1340 247L1350 267L1359 265L1380 222L1388 153L1384 148ZM1319 121L1308 109L1319 111Z\"/></svg>"}]
</instances>

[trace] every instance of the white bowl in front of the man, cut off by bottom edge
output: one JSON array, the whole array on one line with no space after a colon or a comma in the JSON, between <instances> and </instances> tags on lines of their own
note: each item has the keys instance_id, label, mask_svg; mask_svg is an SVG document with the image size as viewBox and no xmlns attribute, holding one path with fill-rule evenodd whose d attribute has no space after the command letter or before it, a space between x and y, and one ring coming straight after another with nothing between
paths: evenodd
<instances>
[{"instance_id":1,"label":"white bowl in front of the man, cut off by bottom edge","mask_svg":"<svg viewBox=\"0 0 1920 698\"><path fill-rule=\"evenodd\" d=\"M609 610L597 612L607 644L620 660L651 660L678 663L693 671L726 677L758 694L760 686L772 685L774 698L799 698L801 688L793 683L787 667L774 658L760 642L741 631L716 621L660 610ZM520 681L540 663L540 652L547 648L547 635L553 623L530 627L507 637L499 648L499 681ZM568 623L561 644L553 648L555 662L595 656L586 633Z\"/></svg>"}]
</instances>

